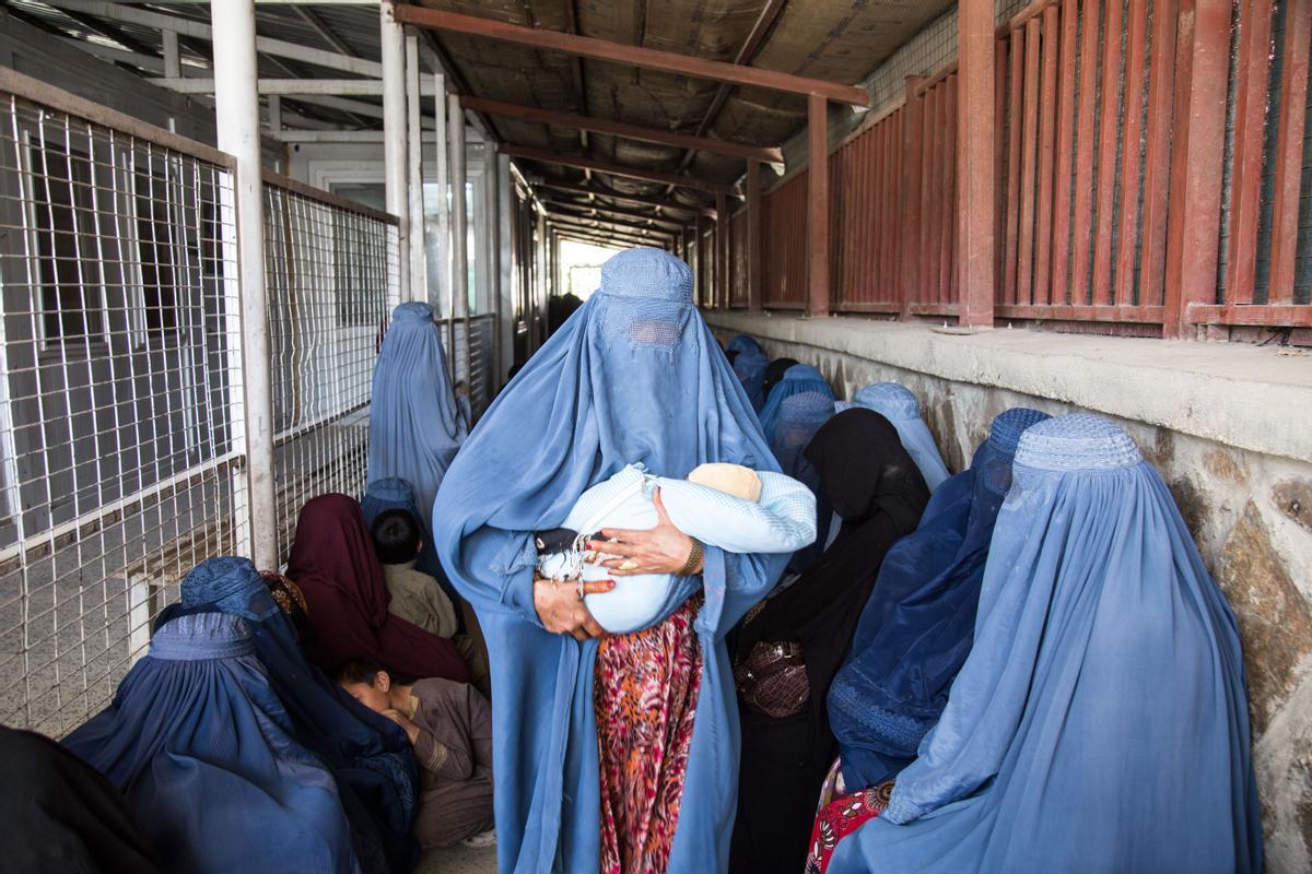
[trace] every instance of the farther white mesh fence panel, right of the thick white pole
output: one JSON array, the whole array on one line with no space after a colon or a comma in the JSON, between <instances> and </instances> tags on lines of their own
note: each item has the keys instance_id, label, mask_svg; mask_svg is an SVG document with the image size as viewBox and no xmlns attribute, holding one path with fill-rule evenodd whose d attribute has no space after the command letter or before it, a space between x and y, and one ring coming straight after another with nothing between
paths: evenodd
<instances>
[{"instance_id":1,"label":"farther white mesh fence panel, right of the thick white pole","mask_svg":"<svg viewBox=\"0 0 1312 874\"><path fill-rule=\"evenodd\" d=\"M329 491L359 495L378 345L399 301L395 221L327 195L265 183L278 544Z\"/></svg>"}]
</instances>

